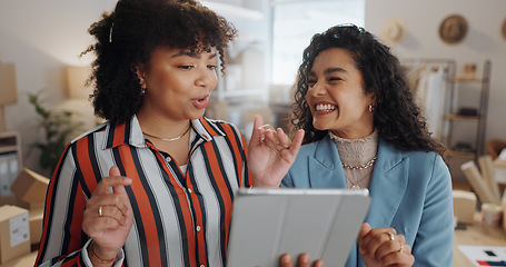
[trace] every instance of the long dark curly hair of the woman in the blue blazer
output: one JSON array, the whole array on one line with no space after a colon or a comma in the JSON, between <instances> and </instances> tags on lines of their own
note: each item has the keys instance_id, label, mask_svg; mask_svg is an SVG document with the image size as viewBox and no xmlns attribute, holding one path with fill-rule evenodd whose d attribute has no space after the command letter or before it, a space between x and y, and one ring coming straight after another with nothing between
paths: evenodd
<instances>
[{"instance_id":1,"label":"long dark curly hair of the woman in the blue blazer","mask_svg":"<svg viewBox=\"0 0 506 267\"><path fill-rule=\"evenodd\" d=\"M445 147L430 137L425 118L414 102L406 69L370 32L354 24L335 26L312 36L304 50L297 73L290 122L306 131L304 144L323 139L326 130L312 126L312 115L306 101L308 75L315 58L329 48L346 49L364 77L364 93L376 93L374 123L378 135L397 149L435 151L443 156Z\"/></svg>"}]
</instances>

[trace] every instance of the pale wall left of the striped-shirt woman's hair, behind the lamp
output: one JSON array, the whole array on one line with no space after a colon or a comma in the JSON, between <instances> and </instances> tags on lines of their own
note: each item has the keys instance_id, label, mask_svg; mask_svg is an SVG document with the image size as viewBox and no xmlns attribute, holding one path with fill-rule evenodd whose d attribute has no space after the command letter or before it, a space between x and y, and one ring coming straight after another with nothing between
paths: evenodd
<instances>
[{"instance_id":1,"label":"pale wall left of the striped-shirt woman's hair, behind the lamp","mask_svg":"<svg viewBox=\"0 0 506 267\"><path fill-rule=\"evenodd\" d=\"M91 61L78 57L92 41L87 30L115 4L116 0L0 1L0 61L16 63L18 85L18 103L4 107L6 125L21 135L24 167L40 171L37 150L29 154L41 131L27 93L44 89L48 107L65 99L65 67Z\"/></svg>"}]
</instances>

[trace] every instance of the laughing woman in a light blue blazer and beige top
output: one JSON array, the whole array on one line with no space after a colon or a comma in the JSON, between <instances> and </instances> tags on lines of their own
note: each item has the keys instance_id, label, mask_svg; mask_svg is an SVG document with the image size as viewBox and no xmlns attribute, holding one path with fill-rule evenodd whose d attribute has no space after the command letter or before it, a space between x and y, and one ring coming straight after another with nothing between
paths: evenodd
<instances>
[{"instance_id":1,"label":"laughing woman in a light blue blazer and beige top","mask_svg":"<svg viewBox=\"0 0 506 267\"><path fill-rule=\"evenodd\" d=\"M389 48L353 24L304 51L291 121L306 145L281 186L369 190L346 266L452 266L452 179L408 85Z\"/></svg>"}]
</instances>

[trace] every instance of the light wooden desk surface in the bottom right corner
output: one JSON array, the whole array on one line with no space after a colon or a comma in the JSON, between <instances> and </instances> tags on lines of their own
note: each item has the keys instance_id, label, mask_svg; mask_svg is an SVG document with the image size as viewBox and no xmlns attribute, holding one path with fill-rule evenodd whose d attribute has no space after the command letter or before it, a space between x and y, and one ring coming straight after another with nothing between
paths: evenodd
<instances>
[{"instance_id":1,"label":"light wooden desk surface in the bottom right corner","mask_svg":"<svg viewBox=\"0 0 506 267\"><path fill-rule=\"evenodd\" d=\"M474 267L458 249L459 245L506 247L506 233L502 227L484 226L479 221L480 216L476 214L473 225L468 225L465 230L455 230L454 267Z\"/></svg>"}]
</instances>

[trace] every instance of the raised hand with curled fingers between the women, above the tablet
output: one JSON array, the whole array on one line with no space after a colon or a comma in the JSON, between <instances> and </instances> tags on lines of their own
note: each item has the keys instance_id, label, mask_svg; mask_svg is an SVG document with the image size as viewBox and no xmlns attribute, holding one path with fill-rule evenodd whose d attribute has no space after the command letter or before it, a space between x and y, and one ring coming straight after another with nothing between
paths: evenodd
<instances>
[{"instance_id":1,"label":"raised hand with curled fingers between the women, above the tablet","mask_svg":"<svg viewBox=\"0 0 506 267\"><path fill-rule=\"evenodd\" d=\"M279 187L294 164L304 139L304 130L297 131L294 140L280 128L275 130L255 116L251 140L248 146L248 168L254 187Z\"/></svg>"}]
</instances>

